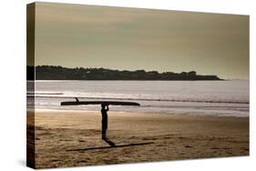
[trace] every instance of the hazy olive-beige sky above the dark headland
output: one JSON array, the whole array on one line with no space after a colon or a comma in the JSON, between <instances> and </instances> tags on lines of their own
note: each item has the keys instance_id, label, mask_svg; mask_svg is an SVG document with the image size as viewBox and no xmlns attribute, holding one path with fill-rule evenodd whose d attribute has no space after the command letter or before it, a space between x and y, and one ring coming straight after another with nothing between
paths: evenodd
<instances>
[{"instance_id":1,"label":"hazy olive-beige sky above the dark headland","mask_svg":"<svg viewBox=\"0 0 256 171\"><path fill-rule=\"evenodd\" d=\"M249 16L36 3L36 65L249 78Z\"/></svg>"}]
</instances>

